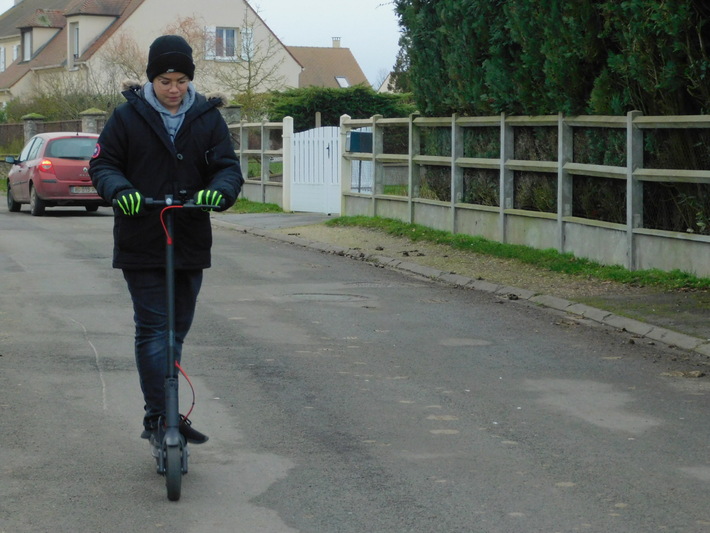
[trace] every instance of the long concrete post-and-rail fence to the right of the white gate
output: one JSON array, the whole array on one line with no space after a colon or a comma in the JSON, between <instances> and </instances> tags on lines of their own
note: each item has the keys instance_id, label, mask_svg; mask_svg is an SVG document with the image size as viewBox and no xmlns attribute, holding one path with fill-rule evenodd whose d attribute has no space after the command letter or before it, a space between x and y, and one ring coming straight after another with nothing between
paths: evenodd
<instances>
[{"instance_id":1,"label":"long concrete post-and-rail fence to the right of the white gate","mask_svg":"<svg viewBox=\"0 0 710 533\"><path fill-rule=\"evenodd\" d=\"M554 248L603 264L631 270L679 269L710 276L710 236L643 227L644 185L662 183L710 184L710 170L644 168L644 131L650 129L710 128L710 116L542 116L542 117L452 117L366 120L341 117L341 165L343 215L382 216L427 227L480 235L491 240L539 249ZM348 152L346 136L360 128L372 128L372 153ZM515 138L520 128L554 128L557 132L555 160L516 159ZM406 131L404 153L386 153L386 136L396 129ZM431 128L450 132L450 154L421 154L421 139ZM467 157L463 138L469 128L493 128L499 136L496 157ZM625 164L620 166L574 161L575 128L607 128L625 132ZM372 192L351 187L353 163L369 162L374 170ZM439 167L450 176L450 199L421 197L428 169ZM391 168L403 170L404 182L396 194L388 177ZM478 169L497 174L497 205L463 202L464 171ZM522 172L556 176L554 212L516 208L515 180ZM607 178L624 182L626 220L606 222L573 216L573 180ZM389 185L389 187L388 187Z\"/></svg>"}]
</instances>

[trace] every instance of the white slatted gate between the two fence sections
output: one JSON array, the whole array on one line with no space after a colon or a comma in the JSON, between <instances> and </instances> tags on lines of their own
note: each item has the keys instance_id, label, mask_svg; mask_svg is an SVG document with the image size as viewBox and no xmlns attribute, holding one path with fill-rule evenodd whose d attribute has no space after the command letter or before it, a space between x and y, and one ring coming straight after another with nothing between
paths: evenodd
<instances>
[{"instance_id":1,"label":"white slatted gate between the two fence sections","mask_svg":"<svg viewBox=\"0 0 710 533\"><path fill-rule=\"evenodd\" d=\"M291 210L340 213L340 128L293 135Z\"/></svg>"}]
</instances>

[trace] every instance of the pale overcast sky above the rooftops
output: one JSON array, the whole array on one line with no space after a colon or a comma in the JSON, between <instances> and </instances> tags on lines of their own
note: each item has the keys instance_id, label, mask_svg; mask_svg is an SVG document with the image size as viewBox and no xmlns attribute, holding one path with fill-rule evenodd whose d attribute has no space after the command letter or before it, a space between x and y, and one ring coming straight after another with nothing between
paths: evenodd
<instances>
[{"instance_id":1,"label":"pale overcast sky above the rooftops","mask_svg":"<svg viewBox=\"0 0 710 533\"><path fill-rule=\"evenodd\" d=\"M384 80L399 51L399 25L391 0L249 0L287 46L349 48L372 84ZM13 0L0 0L0 13Z\"/></svg>"}]
</instances>

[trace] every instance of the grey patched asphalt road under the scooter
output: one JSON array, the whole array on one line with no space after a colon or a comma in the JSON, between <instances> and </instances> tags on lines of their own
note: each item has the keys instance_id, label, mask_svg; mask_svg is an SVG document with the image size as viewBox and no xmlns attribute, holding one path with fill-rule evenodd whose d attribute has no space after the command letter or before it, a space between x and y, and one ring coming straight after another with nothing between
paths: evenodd
<instances>
[{"instance_id":1,"label":"grey patched asphalt road under the scooter","mask_svg":"<svg viewBox=\"0 0 710 533\"><path fill-rule=\"evenodd\" d=\"M0 211L2 533L710 531L679 351L224 228L168 502L110 255L107 210Z\"/></svg>"}]
</instances>

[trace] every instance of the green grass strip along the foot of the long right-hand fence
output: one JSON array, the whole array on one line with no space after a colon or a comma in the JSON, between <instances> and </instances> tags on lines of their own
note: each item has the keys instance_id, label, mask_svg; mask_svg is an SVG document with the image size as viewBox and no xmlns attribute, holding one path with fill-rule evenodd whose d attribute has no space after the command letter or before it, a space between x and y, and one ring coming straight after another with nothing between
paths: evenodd
<instances>
[{"instance_id":1,"label":"green grass strip along the foot of the long right-hand fence","mask_svg":"<svg viewBox=\"0 0 710 533\"><path fill-rule=\"evenodd\" d=\"M388 218L339 217L329 220L326 224L375 229L396 237L406 237L413 242L433 242L465 252L520 261L551 272L614 281L637 287L657 287L662 290L710 289L710 278L699 278L681 270L670 272L658 269L632 271L622 266L602 265L589 259L575 257L572 254L562 254L553 249L538 250L518 244L503 244L483 237L453 234Z\"/></svg>"}]
</instances>

